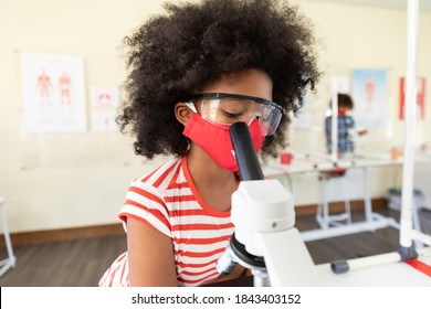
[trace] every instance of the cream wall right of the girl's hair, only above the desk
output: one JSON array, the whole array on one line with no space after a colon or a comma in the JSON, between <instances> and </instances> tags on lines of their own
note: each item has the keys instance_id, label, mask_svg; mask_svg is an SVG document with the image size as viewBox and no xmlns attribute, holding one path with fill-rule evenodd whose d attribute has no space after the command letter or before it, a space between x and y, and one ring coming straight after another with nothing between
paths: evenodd
<instances>
[{"instance_id":1,"label":"cream wall right of the girl's hair, only above the desk","mask_svg":"<svg viewBox=\"0 0 431 309\"><path fill-rule=\"evenodd\" d=\"M382 68L388 74L387 126L370 129L364 138L365 151L389 151L402 146L403 121L398 120L399 78L407 68L407 11L382 7L339 4L336 1L296 1L312 18L316 34L322 40L320 64L325 72L317 95L312 98L314 130L298 130L293 138L295 149L323 148L322 115L330 98L328 78L333 75L351 77L354 68ZM419 15L418 75L427 78L428 89L431 76L431 11ZM351 82L351 81L350 81ZM425 95L427 103L431 97ZM425 108L425 120L431 109ZM416 142L429 142L431 126L417 124ZM316 132L317 131L317 132ZM307 140L308 142L304 142Z\"/></svg>"}]
</instances>

